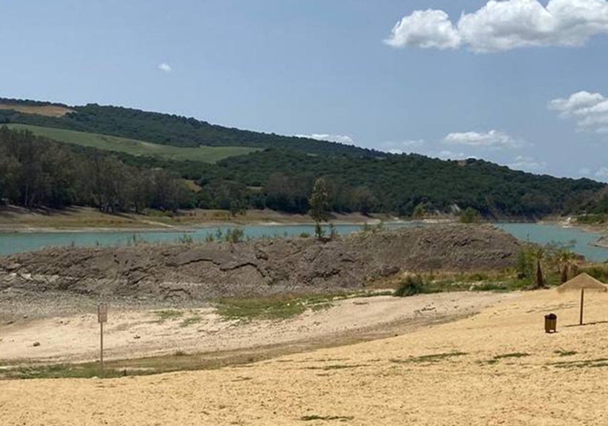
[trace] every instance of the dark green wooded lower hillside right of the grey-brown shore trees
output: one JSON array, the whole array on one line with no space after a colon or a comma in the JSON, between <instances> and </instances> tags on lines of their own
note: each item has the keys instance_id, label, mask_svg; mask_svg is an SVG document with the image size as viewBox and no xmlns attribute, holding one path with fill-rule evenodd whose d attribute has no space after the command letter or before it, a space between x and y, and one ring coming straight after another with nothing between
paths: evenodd
<instances>
[{"instance_id":1,"label":"dark green wooded lower hillside right of the grey-brown shore trees","mask_svg":"<svg viewBox=\"0 0 608 426\"><path fill-rule=\"evenodd\" d=\"M417 206L430 213L472 207L489 217L542 217L608 207L607 195L599 195L605 184L533 175L482 160L328 158L282 150L220 161L201 180L209 189L202 197L210 197L202 202L218 206L241 200L246 206L306 212L319 176L330 186L334 211L412 215Z\"/></svg>"}]
</instances>

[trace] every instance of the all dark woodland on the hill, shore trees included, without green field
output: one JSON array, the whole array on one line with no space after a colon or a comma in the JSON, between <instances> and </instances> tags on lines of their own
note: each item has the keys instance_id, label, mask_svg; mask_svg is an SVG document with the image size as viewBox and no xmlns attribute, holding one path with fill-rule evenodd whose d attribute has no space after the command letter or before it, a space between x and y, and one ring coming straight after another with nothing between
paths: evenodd
<instances>
[{"instance_id":1,"label":"all dark woodland on the hill, shore trees included, without green field","mask_svg":"<svg viewBox=\"0 0 608 426\"><path fill-rule=\"evenodd\" d=\"M10 105L18 105L21 112ZM329 187L330 208L336 212L412 216L425 212L457 214L470 207L494 218L608 212L606 184L518 172L482 160L389 155L115 106L7 99L0 99L0 106L5 108L0 109L0 122L94 132L86 136L119 144L120 139L104 139L103 134L112 134L171 145L178 151L170 156L131 155L126 148L111 153L98 149L103 146L97 142L81 141L80 145L89 146L72 144L79 141L58 144L4 128L0 136L0 197L27 207L81 204L133 211L142 206L198 206L233 212L269 208L306 213L314 180L323 177ZM37 106L45 107L46 115L29 113ZM70 138L78 137L78 133L70 133ZM199 145L261 150L208 164L186 155ZM185 190L178 178L195 180L202 190Z\"/></svg>"}]
</instances>

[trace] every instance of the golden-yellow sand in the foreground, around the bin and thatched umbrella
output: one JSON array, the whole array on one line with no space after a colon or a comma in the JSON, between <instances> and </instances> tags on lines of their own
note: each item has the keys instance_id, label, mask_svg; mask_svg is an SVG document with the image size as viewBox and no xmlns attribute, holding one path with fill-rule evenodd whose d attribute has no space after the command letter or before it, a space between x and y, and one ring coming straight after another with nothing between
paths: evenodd
<instances>
[{"instance_id":1,"label":"golden-yellow sand in the foreground, around the bin and thatched umbrella","mask_svg":"<svg viewBox=\"0 0 608 426\"><path fill-rule=\"evenodd\" d=\"M586 319L598 322L570 327L578 294L546 290L407 335L240 368L9 380L0 424L606 425L607 304L589 293ZM547 312L558 333L544 333ZM505 357L516 353L529 355Z\"/></svg>"}]
</instances>

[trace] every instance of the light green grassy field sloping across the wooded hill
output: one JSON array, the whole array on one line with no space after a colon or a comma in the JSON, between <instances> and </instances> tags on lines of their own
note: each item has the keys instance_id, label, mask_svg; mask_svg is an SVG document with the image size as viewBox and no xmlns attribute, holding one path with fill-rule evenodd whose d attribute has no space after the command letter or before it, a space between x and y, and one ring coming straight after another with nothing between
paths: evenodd
<instances>
[{"instance_id":1,"label":"light green grassy field sloping across the wooded hill","mask_svg":"<svg viewBox=\"0 0 608 426\"><path fill-rule=\"evenodd\" d=\"M124 152L130 155L159 156L174 160L216 162L230 156L245 155L259 150L259 148L249 147L181 148L171 145L151 144L137 139L118 138L106 134L85 133L60 128L38 127L27 124L9 124L8 126L12 129L29 130L38 136L45 136L68 144Z\"/></svg>"}]
</instances>

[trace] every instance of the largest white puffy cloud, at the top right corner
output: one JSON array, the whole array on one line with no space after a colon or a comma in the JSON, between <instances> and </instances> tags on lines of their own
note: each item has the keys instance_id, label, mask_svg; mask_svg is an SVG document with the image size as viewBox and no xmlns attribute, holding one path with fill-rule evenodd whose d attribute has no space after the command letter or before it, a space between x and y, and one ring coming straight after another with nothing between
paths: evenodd
<instances>
[{"instance_id":1,"label":"largest white puffy cloud, at the top right corner","mask_svg":"<svg viewBox=\"0 0 608 426\"><path fill-rule=\"evenodd\" d=\"M451 21L443 10L416 10L393 27L386 44L394 47L508 51L530 46L581 46L608 33L608 1L488 1L481 9Z\"/></svg>"}]
</instances>

